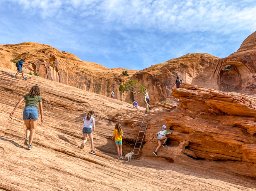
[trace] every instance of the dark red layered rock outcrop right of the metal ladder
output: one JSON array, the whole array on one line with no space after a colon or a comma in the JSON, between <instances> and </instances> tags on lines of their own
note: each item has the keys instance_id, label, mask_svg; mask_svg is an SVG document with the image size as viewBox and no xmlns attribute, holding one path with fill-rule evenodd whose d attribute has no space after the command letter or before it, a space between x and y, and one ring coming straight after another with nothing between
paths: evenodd
<instances>
[{"instance_id":1,"label":"dark red layered rock outcrop right of the metal ladder","mask_svg":"<svg viewBox=\"0 0 256 191\"><path fill-rule=\"evenodd\" d=\"M181 103L149 121L143 156L151 155L155 132L165 124L172 133L159 156L174 163L220 161L232 172L256 177L256 98L191 84L173 89L172 95Z\"/></svg>"}]
</instances>

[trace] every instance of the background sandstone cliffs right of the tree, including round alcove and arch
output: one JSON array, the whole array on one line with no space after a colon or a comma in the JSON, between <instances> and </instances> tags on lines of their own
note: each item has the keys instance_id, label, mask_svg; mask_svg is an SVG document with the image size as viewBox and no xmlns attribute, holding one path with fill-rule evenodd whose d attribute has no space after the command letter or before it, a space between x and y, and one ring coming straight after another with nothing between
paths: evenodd
<instances>
[{"instance_id":1,"label":"background sandstone cliffs right of the tree, including round alcove and arch","mask_svg":"<svg viewBox=\"0 0 256 191\"><path fill-rule=\"evenodd\" d=\"M232 65L230 69L225 69ZM230 56L219 59L209 54L187 54L177 59L152 65L137 72L133 80L147 88L154 102L173 101L168 89L176 76L189 84L200 85L221 91L256 94L256 32L247 37L239 50ZM133 95L131 95L132 97ZM143 104L142 95L134 95Z\"/></svg>"}]
</instances>

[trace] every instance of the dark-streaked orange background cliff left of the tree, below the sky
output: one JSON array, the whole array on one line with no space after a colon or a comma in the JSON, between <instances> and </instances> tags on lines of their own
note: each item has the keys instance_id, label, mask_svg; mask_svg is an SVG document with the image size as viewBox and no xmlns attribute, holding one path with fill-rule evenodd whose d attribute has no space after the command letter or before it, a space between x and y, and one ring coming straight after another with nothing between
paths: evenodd
<instances>
[{"instance_id":1,"label":"dark-streaked orange background cliff left of the tree, below the sky","mask_svg":"<svg viewBox=\"0 0 256 191\"><path fill-rule=\"evenodd\" d=\"M110 96L115 91L115 99L121 99L119 85L126 82L119 71L100 64L80 60L68 52L61 52L49 45L34 42L0 45L0 66L16 71L10 60L25 58L27 69L24 73L38 73L44 79L71 85L96 94Z\"/></svg>"}]
</instances>

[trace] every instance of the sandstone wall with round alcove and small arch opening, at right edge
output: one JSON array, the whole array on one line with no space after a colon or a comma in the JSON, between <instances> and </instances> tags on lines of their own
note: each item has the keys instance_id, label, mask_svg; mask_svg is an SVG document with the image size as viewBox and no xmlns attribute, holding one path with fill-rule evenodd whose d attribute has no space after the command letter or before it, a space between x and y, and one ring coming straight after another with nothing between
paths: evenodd
<instances>
[{"instance_id":1,"label":"sandstone wall with round alcove and small arch opening, at right edge","mask_svg":"<svg viewBox=\"0 0 256 191\"><path fill-rule=\"evenodd\" d=\"M220 59L208 67L192 84L222 91L255 94L256 88L256 32L247 37L236 53ZM232 65L231 69L225 69ZM204 79L204 80L202 80Z\"/></svg>"}]
</instances>

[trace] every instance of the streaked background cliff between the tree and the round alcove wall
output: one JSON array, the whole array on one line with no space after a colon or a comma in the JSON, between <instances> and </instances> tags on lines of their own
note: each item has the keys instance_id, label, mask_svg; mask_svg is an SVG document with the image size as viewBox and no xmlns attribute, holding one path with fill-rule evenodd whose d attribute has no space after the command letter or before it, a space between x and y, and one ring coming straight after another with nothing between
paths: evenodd
<instances>
[{"instance_id":1,"label":"streaked background cliff between the tree and the round alcove wall","mask_svg":"<svg viewBox=\"0 0 256 191\"><path fill-rule=\"evenodd\" d=\"M176 99L171 96L171 88L168 88L175 82L176 76L178 75L183 82L191 84L193 79L205 73L206 68L213 67L218 60L218 57L210 54L187 54L177 59L152 65L134 74L132 79L138 80L139 84L147 88L151 101L175 100L176 102ZM142 97L143 95L134 95L139 104L143 104Z\"/></svg>"}]
</instances>

